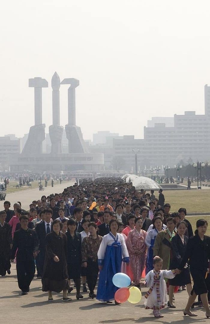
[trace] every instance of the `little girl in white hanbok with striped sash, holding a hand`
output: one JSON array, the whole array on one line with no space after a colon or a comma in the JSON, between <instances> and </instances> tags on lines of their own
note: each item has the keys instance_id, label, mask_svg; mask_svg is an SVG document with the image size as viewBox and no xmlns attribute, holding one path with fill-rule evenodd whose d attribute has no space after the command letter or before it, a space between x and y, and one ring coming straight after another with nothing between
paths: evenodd
<instances>
[{"instance_id":1,"label":"little girl in white hanbok with striped sash, holding a hand","mask_svg":"<svg viewBox=\"0 0 210 324\"><path fill-rule=\"evenodd\" d=\"M154 317L163 317L160 309L167 304L167 287L164 278L173 279L175 271L162 270L163 260L159 257L154 257L154 269L147 273L144 285L150 287L145 295L145 308L153 309Z\"/></svg>"}]
</instances>

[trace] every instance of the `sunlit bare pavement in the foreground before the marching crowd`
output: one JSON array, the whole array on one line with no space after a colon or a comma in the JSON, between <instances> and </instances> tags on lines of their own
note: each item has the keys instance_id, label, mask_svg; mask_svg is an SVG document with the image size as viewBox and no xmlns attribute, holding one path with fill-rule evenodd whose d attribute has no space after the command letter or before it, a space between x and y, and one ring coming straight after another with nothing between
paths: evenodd
<instances>
[{"instance_id":1,"label":"sunlit bare pavement in the foreground before the marching crowd","mask_svg":"<svg viewBox=\"0 0 210 324\"><path fill-rule=\"evenodd\" d=\"M143 296L139 304L126 302L120 306L91 300L88 293L83 300L76 300L76 289L68 294L71 302L63 302L62 294L53 293L53 302L47 301L47 293L42 292L41 280L33 279L28 295L21 296L17 285L16 264L12 263L11 275L0 277L0 323L201 323L210 322L205 318L203 308L195 307L197 318L183 316L187 293L175 294L176 309L166 307L161 311L163 318L154 318L151 310L144 309ZM142 289L142 295L147 288Z\"/></svg>"}]
</instances>

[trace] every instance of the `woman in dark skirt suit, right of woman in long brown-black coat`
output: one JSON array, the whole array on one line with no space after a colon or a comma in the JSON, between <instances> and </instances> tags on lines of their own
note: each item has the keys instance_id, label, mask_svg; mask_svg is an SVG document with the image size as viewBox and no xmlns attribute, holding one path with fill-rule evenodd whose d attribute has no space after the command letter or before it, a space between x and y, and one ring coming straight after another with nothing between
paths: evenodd
<instances>
[{"instance_id":1,"label":"woman in dark skirt suit, right of woman in long brown-black coat","mask_svg":"<svg viewBox=\"0 0 210 324\"><path fill-rule=\"evenodd\" d=\"M77 299L83 298L80 294L81 286L81 265L82 265L82 241L81 234L76 232L77 221L75 219L69 219L67 222L67 268L68 279L74 279L77 290Z\"/></svg>"}]
</instances>

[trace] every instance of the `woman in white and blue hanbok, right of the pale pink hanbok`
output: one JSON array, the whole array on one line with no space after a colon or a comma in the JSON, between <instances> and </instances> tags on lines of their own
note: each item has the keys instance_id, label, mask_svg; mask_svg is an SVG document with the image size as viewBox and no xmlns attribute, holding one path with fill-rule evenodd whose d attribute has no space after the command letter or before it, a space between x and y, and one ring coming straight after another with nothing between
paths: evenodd
<instances>
[{"instance_id":1,"label":"woman in white and blue hanbok, right of the pale pink hanbok","mask_svg":"<svg viewBox=\"0 0 210 324\"><path fill-rule=\"evenodd\" d=\"M146 260L146 274L153 270L153 246L154 240L157 234L163 230L163 221L160 216L156 216L152 219L153 229L147 232L147 236L145 238L145 243L148 248L147 252L147 260Z\"/></svg>"}]
</instances>

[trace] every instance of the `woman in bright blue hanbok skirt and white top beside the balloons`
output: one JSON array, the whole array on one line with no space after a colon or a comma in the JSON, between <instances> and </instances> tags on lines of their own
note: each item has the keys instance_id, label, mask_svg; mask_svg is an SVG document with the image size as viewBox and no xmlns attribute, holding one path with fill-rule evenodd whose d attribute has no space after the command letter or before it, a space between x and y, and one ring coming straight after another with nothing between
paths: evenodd
<instances>
[{"instance_id":1,"label":"woman in bright blue hanbok skirt and white top beside the balloons","mask_svg":"<svg viewBox=\"0 0 210 324\"><path fill-rule=\"evenodd\" d=\"M111 303L119 289L112 283L112 278L121 272L122 260L129 264L129 254L122 234L117 233L119 223L112 219L109 223L110 232L103 237L98 250L99 284L96 299Z\"/></svg>"}]
</instances>

